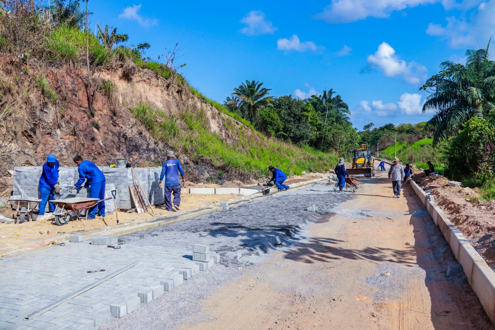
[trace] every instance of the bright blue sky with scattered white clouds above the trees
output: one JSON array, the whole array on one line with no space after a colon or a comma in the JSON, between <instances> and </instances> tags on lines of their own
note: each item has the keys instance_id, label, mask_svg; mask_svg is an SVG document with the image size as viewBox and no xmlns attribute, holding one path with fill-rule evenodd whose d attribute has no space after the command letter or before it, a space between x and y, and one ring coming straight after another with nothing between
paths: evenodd
<instances>
[{"instance_id":1,"label":"bright blue sky with scattered white clouds above the trees","mask_svg":"<svg viewBox=\"0 0 495 330\"><path fill-rule=\"evenodd\" d=\"M191 85L223 102L244 80L304 98L333 88L354 127L420 122L419 91L444 60L464 61L495 32L495 0L91 1L96 23L148 42L178 42Z\"/></svg>"}]
</instances>

